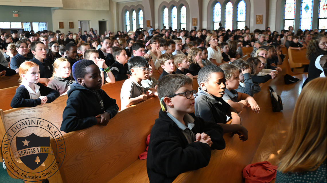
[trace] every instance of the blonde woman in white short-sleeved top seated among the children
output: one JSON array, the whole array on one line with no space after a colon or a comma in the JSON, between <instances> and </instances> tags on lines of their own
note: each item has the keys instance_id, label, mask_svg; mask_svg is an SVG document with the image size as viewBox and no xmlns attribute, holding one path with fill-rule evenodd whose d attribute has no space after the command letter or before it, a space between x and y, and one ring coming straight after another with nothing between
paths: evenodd
<instances>
[{"instance_id":1,"label":"blonde woman in white short-sleeved top seated among the children","mask_svg":"<svg viewBox=\"0 0 327 183\"><path fill-rule=\"evenodd\" d=\"M215 34L209 34L206 38L206 46L208 47L208 60L212 63L221 63L223 57L218 47L218 40Z\"/></svg>"}]
</instances>

